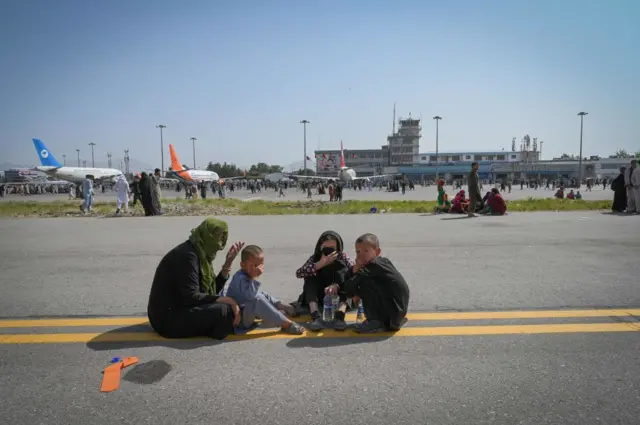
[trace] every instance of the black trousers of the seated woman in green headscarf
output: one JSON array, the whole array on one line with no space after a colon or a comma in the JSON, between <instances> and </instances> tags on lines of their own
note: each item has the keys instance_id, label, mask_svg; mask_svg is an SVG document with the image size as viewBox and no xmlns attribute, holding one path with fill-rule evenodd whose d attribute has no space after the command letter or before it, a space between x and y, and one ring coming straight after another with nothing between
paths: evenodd
<instances>
[{"instance_id":1,"label":"black trousers of the seated woman in green headscarf","mask_svg":"<svg viewBox=\"0 0 640 425\"><path fill-rule=\"evenodd\" d=\"M171 310L162 318L149 317L151 327L165 338L206 336L224 339L233 333L233 309L222 303Z\"/></svg>"}]
</instances>

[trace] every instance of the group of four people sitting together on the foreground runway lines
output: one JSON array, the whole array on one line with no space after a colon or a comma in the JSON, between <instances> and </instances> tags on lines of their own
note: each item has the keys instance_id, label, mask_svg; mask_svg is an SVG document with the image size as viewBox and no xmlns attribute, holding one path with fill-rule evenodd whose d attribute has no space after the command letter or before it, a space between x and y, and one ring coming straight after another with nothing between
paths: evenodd
<instances>
[{"instance_id":1,"label":"group of four people sitting together on the foreground runway lines","mask_svg":"<svg viewBox=\"0 0 640 425\"><path fill-rule=\"evenodd\" d=\"M149 295L147 314L153 329L166 338L206 336L224 339L256 326L300 335L305 328L293 318L308 311L309 330L320 331L328 324L318 312L325 295L340 299L332 327L347 328L345 313L361 302L366 320L355 328L359 333L397 331L406 323L410 290L393 263L381 255L380 240L366 233L355 241L355 261L345 252L340 235L320 235L312 255L295 272L303 281L297 301L283 303L265 291L258 280L265 273L265 252L257 245L236 242L215 274L213 260L227 245L225 221L204 220L185 242L160 261ZM240 267L233 263L240 254Z\"/></svg>"}]
</instances>

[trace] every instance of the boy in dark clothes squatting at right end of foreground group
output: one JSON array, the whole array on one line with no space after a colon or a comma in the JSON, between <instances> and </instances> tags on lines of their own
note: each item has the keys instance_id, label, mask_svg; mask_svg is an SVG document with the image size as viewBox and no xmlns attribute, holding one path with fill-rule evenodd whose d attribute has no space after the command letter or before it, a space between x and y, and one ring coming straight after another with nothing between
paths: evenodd
<instances>
[{"instance_id":1,"label":"boy in dark clothes squatting at right end of foreground group","mask_svg":"<svg viewBox=\"0 0 640 425\"><path fill-rule=\"evenodd\" d=\"M362 300L367 320L356 328L358 333L397 331L407 322L409 286L391 261L380 256L374 234L356 239L356 264L345 292Z\"/></svg>"}]
</instances>

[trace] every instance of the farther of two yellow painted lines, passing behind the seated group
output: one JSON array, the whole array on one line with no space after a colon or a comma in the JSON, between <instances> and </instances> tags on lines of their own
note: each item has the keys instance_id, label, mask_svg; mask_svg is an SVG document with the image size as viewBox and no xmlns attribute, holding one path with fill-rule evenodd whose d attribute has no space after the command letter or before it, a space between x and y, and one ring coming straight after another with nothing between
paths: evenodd
<instances>
[{"instance_id":1,"label":"farther of two yellow painted lines, passing behind the seated group","mask_svg":"<svg viewBox=\"0 0 640 425\"><path fill-rule=\"evenodd\" d=\"M527 311L470 311L442 313L409 313L410 321L487 320L487 319L545 319L571 317L640 316L640 309L592 309L592 310L527 310ZM301 319L308 319L302 316ZM354 313L347 314L347 321L355 321ZM0 328L66 328L89 326L146 325L146 317L96 317L82 319L20 319L0 320Z\"/></svg>"}]
</instances>

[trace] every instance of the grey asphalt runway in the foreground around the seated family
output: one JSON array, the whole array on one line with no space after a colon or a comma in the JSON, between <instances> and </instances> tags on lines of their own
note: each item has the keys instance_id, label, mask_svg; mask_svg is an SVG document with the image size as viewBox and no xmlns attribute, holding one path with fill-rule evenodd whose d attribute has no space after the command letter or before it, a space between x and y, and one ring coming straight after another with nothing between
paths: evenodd
<instances>
[{"instance_id":1,"label":"grey asphalt runway in the foreground around the seated family","mask_svg":"<svg viewBox=\"0 0 640 425\"><path fill-rule=\"evenodd\" d=\"M134 316L143 321L155 266L200 220L0 220L0 316ZM640 242L633 232L639 228L638 216L226 220L230 241L265 249L263 287L286 301L301 290L295 269L310 255L317 236L333 229L350 253L358 235L378 234L383 255L410 284L415 313L508 310L526 316L541 310L640 307ZM216 259L217 267L222 257ZM3 328L0 415L10 424L637 424L640 326L635 322L640 318L624 312L559 316L416 320L405 328L405 336L394 337L222 343L144 338L107 343L93 338L85 343L16 344L2 336L117 336L149 329ZM587 329L598 323L627 329L527 330L531 324ZM452 326L455 333L461 326L488 324L519 327L521 334L495 329L486 335L412 334L438 326ZM117 391L100 393L100 372L115 356L137 356L140 364L123 371Z\"/></svg>"}]
</instances>

